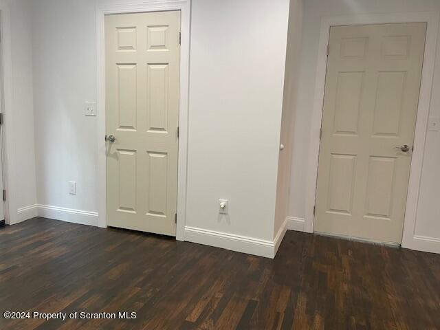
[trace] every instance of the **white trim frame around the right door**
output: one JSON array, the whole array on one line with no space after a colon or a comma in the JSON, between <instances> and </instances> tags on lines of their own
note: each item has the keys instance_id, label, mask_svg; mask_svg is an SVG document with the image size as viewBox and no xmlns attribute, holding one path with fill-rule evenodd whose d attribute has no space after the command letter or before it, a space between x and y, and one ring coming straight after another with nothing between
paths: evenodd
<instances>
[{"instance_id":1,"label":"white trim frame around the right door","mask_svg":"<svg viewBox=\"0 0 440 330\"><path fill-rule=\"evenodd\" d=\"M318 179L318 158L320 150L320 129L322 111L324 108L325 77L327 74L327 45L329 43L330 28L338 25L365 25L381 23L428 23L426 32L425 56L421 76L421 89L419 108L415 128L415 151L412 154L410 181L406 202L404 219L404 234L402 246L418 250L420 244L415 236L415 222L421 171L423 167L423 154L425 151L430 100L432 93L432 80L434 76L434 62L437 50L437 34L439 30L439 13L437 12L408 12L396 14L358 14L350 16L323 17L320 29L318 50L318 65L316 72L316 87L314 96L314 109L311 124L311 136L308 156L308 173L306 188L306 217L305 232L314 232L314 206L316 200L316 184Z\"/></svg>"}]
</instances>

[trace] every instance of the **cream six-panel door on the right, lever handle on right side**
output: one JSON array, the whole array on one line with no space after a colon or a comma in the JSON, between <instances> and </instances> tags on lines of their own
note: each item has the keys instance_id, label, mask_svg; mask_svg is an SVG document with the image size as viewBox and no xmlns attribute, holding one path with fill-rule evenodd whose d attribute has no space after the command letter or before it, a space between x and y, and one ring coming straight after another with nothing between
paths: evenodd
<instances>
[{"instance_id":1,"label":"cream six-panel door on the right, lever handle on right side","mask_svg":"<svg viewBox=\"0 0 440 330\"><path fill-rule=\"evenodd\" d=\"M426 23L331 28L316 232L401 243L425 39Z\"/></svg>"}]
</instances>

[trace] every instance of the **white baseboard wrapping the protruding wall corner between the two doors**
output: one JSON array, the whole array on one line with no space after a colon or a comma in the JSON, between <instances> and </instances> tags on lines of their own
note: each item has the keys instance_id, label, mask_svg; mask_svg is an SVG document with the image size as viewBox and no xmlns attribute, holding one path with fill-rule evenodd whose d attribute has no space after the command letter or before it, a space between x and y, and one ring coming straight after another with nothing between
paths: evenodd
<instances>
[{"instance_id":1,"label":"white baseboard wrapping the protruding wall corner between the two doors","mask_svg":"<svg viewBox=\"0 0 440 330\"><path fill-rule=\"evenodd\" d=\"M185 227L185 241L210 245L216 248L254 254L273 259L285 234L285 225L280 229L274 241L254 239L252 237L216 232L194 227Z\"/></svg>"}]
</instances>

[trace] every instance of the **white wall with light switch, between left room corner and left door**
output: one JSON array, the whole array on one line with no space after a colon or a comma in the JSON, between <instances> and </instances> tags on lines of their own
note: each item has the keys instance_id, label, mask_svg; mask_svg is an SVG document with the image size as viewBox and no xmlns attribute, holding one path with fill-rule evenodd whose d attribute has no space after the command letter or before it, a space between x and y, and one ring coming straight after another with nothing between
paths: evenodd
<instances>
[{"instance_id":1,"label":"white wall with light switch, between left room corner and left door","mask_svg":"<svg viewBox=\"0 0 440 330\"><path fill-rule=\"evenodd\" d=\"M33 0L38 203L96 211L96 3ZM69 195L68 181L77 182Z\"/></svg>"}]
</instances>

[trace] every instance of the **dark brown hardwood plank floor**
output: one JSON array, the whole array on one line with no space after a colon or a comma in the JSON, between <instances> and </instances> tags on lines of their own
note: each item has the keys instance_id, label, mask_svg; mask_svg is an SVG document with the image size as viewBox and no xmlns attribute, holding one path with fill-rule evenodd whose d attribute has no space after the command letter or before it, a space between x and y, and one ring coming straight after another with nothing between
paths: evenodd
<instances>
[{"instance_id":1,"label":"dark brown hardwood plank floor","mask_svg":"<svg viewBox=\"0 0 440 330\"><path fill-rule=\"evenodd\" d=\"M0 229L0 329L440 329L440 255L287 232L275 260L36 218Z\"/></svg>"}]
</instances>

